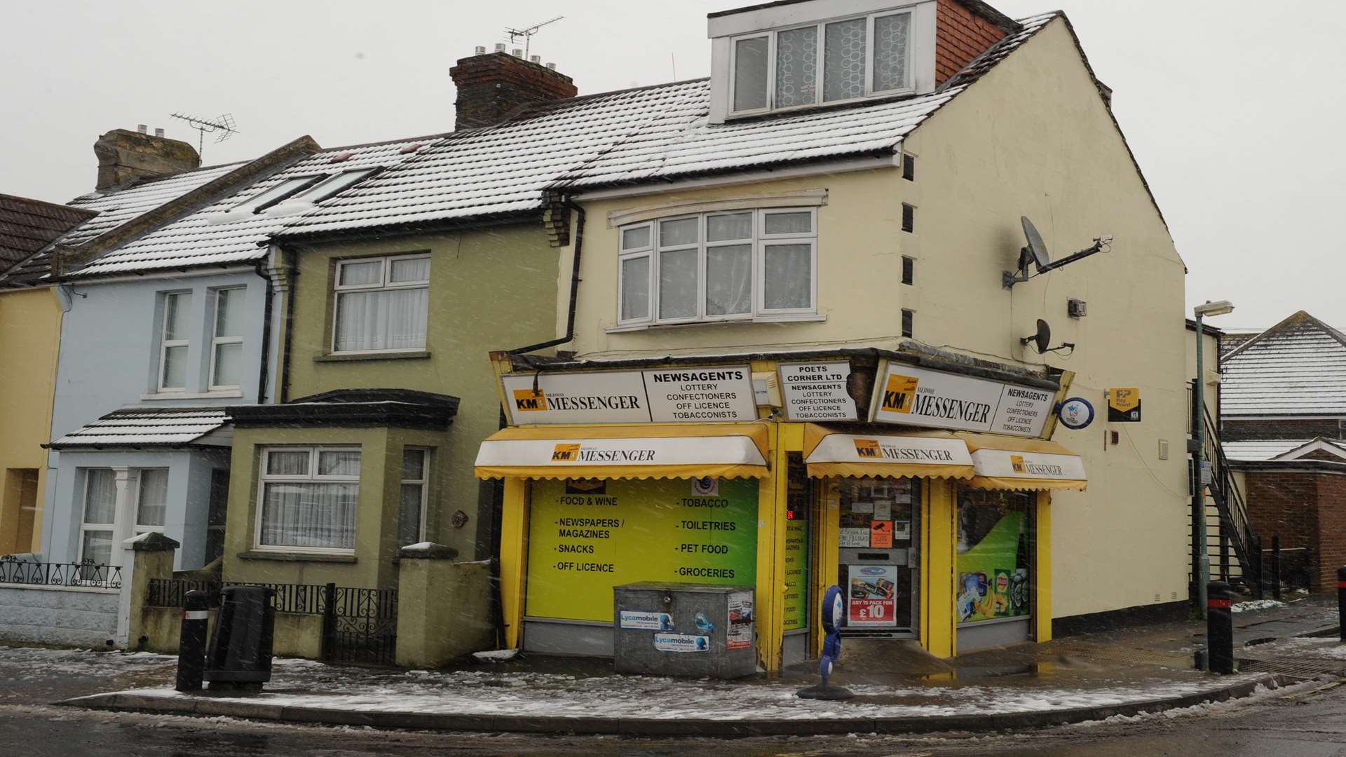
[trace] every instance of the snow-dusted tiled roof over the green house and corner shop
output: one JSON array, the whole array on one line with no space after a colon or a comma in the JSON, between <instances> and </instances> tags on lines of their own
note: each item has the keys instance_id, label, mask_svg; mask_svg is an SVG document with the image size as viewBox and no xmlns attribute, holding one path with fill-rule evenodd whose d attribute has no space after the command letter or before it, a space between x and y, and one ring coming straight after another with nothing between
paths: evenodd
<instances>
[{"instance_id":1,"label":"snow-dusted tiled roof over the green house and corner shop","mask_svg":"<svg viewBox=\"0 0 1346 757\"><path fill-rule=\"evenodd\" d=\"M662 180L892 151L941 105L1058 18L1023 19L941 89L918 97L709 123L707 79L594 94L450 135L287 225L280 237L530 211L548 190Z\"/></svg>"}]
</instances>

